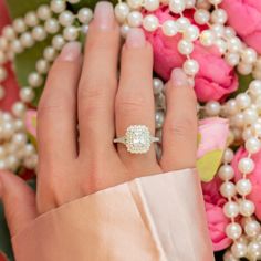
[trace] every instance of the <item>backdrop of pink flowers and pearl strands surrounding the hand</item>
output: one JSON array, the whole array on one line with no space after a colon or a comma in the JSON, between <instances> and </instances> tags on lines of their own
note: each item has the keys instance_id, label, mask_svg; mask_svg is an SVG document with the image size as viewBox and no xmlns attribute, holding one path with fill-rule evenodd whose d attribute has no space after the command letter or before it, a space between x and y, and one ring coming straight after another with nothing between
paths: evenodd
<instances>
[{"instance_id":1,"label":"backdrop of pink flowers and pearl strands surrounding the hand","mask_svg":"<svg viewBox=\"0 0 261 261\"><path fill-rule=\"evenodd\" d=\"M32 186L36 108L46 74L66 42L84 41L95 2L0 0L0 169L17 173ZM216 259L261 260L261 2L114 4L123 39L129 28L139 27L152 43L159 138L166 111L164 82L171 70L181 67L195 88L197 169ZM160 157L160 144L156 149ZM0 260L12 259L0 208Z\"/></svg>"}]
</instances>

